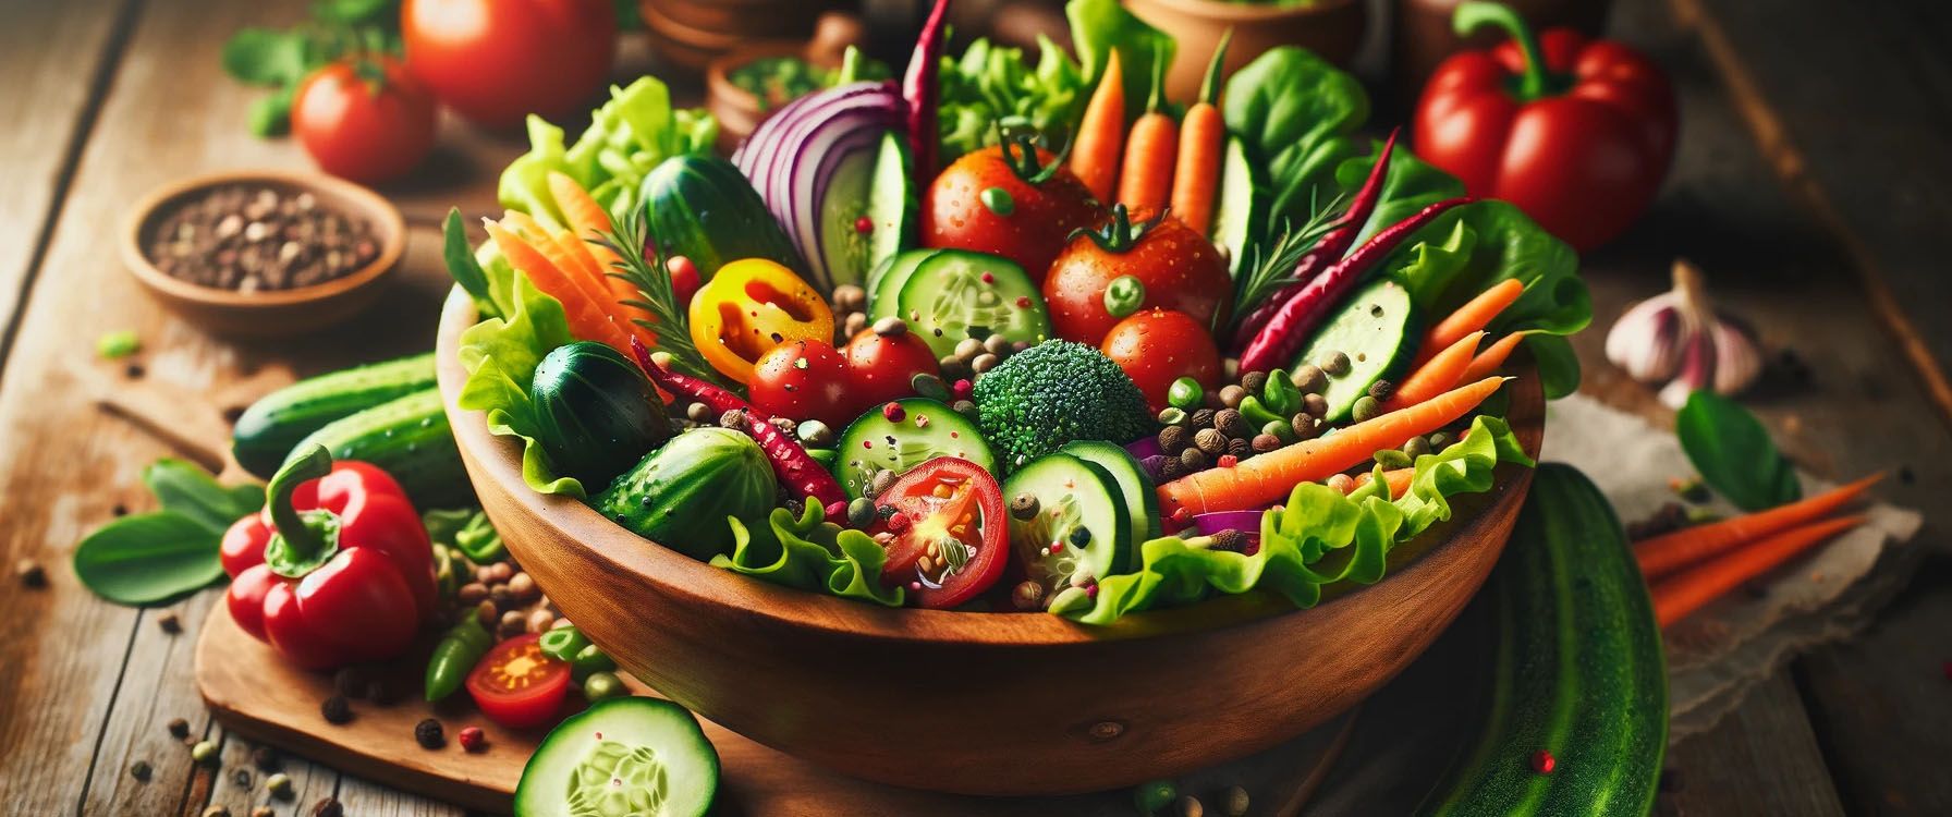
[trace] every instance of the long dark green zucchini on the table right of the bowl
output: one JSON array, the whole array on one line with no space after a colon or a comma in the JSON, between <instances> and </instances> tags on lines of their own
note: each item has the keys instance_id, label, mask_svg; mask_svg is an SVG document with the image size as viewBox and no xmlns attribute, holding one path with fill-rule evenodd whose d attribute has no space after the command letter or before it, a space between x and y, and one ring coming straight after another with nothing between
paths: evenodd
<instances>
[{"instance_id":1,"label":"long dark green zucchini on the table right of the bowl","mask_svg":"<svg viewBox=\"0 0 1952 817\"><path fill-rule=\"evenodd\" d=\"M1421 811L1646 815L1667 751L1667 659L1620 521L1585 474L1538 466L1485 593L1485 725ZM1550 774L1534 770L1540 751Z\"/></svg>"}]
</instances>

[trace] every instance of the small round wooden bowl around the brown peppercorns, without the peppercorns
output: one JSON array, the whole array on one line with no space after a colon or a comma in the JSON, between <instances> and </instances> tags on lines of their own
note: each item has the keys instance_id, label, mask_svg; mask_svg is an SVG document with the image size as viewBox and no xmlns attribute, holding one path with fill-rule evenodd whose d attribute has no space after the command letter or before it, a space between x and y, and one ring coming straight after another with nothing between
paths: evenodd
<instances>
[{"instance_id":1,"label":"small round wooden bowl around the brown peppercorns, without the peppercorns","mask_svg":"<svg viewBox=\"0 0 1952 817\"><path fill-rule=\"evenodd\" d=\"M365 267L326 283L256 292L203 287L156 269L142 244L168 205L228 185L308 191L324 207L371 224L379 255ZM223 172L164 185L135 205L121 232L123 265L150 294L183 320L232 337L291 337L351 318L383 294L386 279L400 267L402 252L406 252L406 222L383 195L332 175L283 170Z\"/></svg>"}]
</instances>

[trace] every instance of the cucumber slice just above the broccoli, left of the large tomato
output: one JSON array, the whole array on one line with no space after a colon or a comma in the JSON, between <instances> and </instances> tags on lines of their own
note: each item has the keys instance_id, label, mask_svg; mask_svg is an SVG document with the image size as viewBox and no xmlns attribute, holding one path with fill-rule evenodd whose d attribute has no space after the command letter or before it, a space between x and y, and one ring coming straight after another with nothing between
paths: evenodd
<instances>
[{"instance_id":1,"label":"cucumber slice just above the broccoli, left of the large tomato","mask_svg":"<svg viewBox=\"0 0 1952 817\"><path fill-rule=\"evenodd\" d=\"M873 318L900 316L908 328L929 343L937 357L956 349L964 337L992 333L1011 341L1040 343L1050 337L1050 314L1044 294L1007 257L964 250L941 250L921 259L914 273L894 281L884 277L880 291L894 289L894 298L876 298Z\"/></svg>"}]
</instances>

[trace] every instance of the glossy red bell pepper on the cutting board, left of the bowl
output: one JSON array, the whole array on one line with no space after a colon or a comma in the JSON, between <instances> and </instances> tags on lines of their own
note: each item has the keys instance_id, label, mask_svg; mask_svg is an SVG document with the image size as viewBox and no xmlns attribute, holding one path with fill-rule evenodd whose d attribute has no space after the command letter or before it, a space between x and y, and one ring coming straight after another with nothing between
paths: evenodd
<instances>
[{"instance_id":1,"label":"glossy red bell pepper on the cutting board, left of the bowl","mask_svg":"<svg viewBox=\"0 0 1952 817\"><path fill-rule=\"evenodd\" d=\"M224 532L230 618L305 669L400 655L433 614L433 548L386 472L332 462L324 447L285 462L265 507Z\"/></svg>"}]
</instances>

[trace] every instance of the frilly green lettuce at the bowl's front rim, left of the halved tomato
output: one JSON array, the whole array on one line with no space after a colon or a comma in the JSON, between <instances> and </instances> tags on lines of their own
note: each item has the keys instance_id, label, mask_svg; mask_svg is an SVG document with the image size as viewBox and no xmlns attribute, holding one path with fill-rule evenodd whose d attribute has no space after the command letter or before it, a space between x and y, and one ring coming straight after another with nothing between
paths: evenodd
<instances>
[{"instance_id":1,"label":"frilly green lettuce at the bowl's front rim, left of the halved tomato","mask_svg":"<svg viewBox=\"0 0 1952 817\"><path fill-rule=\"evenodd\" d=\"M732 517L726 523L732 525L732 556L712 556L712 567L802 591L902 606L902 589L880 583L886 552L869 534L824 521L820 503L806 503L798 519L775 507L763 526L746 526Z\"/></svg>"}]
</instances>

